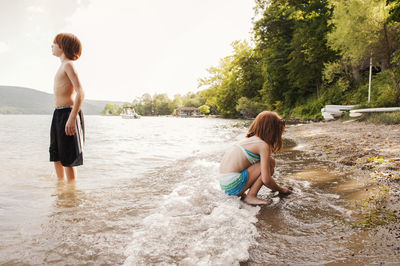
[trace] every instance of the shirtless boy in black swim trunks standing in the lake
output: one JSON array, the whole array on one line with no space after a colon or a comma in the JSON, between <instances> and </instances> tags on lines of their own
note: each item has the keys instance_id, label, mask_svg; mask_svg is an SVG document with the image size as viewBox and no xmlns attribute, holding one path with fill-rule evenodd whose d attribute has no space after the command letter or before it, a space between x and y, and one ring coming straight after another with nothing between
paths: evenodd
<instances>
[{"instance_id":1,"label":"shirtless boy in black swim trunks standing in the lake","mask_svg":"<svg viewBox=\"0 0 400 266\"><path fill-rule=\"evenodd\" d=\"M83 114L80 110L84 92L73 65L73 61L81 55L82 46L75 35L60 33L54 38L51 48L53 55L60 58L61 65L54 78L56 108L50 130L50 161L54 162L59 179L64 179L65 173L68 181L73 181L76 178L74 167L83 164L77 116L79 114L84 135Z\"/></svg>"}]
</instances>

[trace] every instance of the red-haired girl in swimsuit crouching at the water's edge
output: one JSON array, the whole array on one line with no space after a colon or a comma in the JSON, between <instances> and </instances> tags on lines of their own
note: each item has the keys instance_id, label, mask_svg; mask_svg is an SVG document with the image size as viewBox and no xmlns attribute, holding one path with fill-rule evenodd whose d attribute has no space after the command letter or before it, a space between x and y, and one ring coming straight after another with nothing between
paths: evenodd
<instances>
[{"instance_id":1,"label":"red-haired girl in swimsuit crouching at the water's edge","mask_svg":"<svg viewBox=\"0 0 400 266\"><path fill-rule=\"evenodd\" d=\"M281 150L284 130L285 121L275 112L264 111L257 115L246 138L231 147L222 158L220 185L226 194L245 196L247 204L257 205L268 203L257 198L262 185L272 191L292 193L272 178L275 159L271 155Z\"/></svg>"}]
</instances>

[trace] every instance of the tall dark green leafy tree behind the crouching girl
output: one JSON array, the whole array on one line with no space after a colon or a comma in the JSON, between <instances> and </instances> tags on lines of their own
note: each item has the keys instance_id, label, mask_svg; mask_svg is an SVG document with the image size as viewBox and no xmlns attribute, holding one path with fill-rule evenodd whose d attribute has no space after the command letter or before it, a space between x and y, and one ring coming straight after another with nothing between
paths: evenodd
<instances>
[{"instance_id":1,"label":"tall dark green leafy tree behind the crouching girl","mask_svg":"<svg viewBox=\"0 0 400 266\"><path fill-rule=\"evenodd\" d=\"M335 58L326 42L332 8L322 0L257 1L256 7L262 13L254 26L262 57L261 94L269 108L281 102L290 110L320 94L324 64Z\"/></svg>"}]
</instances>

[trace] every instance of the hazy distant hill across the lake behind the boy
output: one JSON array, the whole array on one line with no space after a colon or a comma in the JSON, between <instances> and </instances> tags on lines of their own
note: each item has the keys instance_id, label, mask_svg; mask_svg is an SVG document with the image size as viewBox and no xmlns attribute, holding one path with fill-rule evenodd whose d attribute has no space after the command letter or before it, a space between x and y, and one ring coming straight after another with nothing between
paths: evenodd
<instances>
[{"instance_id":1,"label":"hazy distant hill across the lake behind the boy","mask_svg":"<svg viewBox=\"0 0 400 266\"><path fill-rule=\"evenodd\" d=\"M107 103L123 104L85 99L82 110L88 115L99 115ZM23 87L0 86L0 114L52 114L53 111L53 94Z\"/></svg>"}]
</instances>

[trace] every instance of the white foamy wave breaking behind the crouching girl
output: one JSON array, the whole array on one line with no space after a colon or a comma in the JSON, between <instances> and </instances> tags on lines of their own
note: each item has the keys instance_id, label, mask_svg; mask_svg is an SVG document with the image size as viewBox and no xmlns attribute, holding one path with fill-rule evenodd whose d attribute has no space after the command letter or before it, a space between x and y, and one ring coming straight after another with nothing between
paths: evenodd
<instances>
[{"instance_id":1,"label":"white foamy wave breaking behind the crouching girl","mask_svg":"<svg viewBox=\"0 0 400 266\"><path fill-rule=\"evenodd\" d=\"M239 265L258 235L259 207L219 189L217 165L196 160L184 182L134 231L125 265Z\"/></svg>"}]
</instances>

